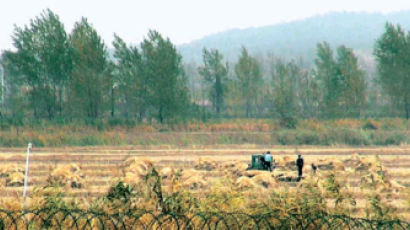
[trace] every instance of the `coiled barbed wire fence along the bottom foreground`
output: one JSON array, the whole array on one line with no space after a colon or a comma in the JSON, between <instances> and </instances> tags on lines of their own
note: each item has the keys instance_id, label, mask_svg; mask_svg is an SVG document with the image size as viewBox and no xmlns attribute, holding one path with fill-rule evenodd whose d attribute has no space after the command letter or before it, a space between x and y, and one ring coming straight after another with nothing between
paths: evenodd
<instances>
[{"instance_id":1,"label":"coiled barbed wire fence along the bottom foreground","mask_svg":"<svg viewBox=\"0 0 410 230\"><path fill-rule=\"evenodd\" d=\"M193 214L133 210L100 213L73 209L0 210L0 229L410 229L401 220L346 215L208 212Z\"/></svg>"}]
</instances>

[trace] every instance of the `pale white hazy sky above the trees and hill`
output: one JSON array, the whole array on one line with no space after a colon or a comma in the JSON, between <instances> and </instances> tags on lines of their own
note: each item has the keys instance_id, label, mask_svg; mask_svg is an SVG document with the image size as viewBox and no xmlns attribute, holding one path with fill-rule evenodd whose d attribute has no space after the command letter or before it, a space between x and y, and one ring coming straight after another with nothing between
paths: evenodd
<instances>
[{"instance_id":1,"label":"pale white hazy sky above the trees and hill","mask_svg":"<svg viewBox=\"0 0 410 230\"><path fill-rule=\"evenodd\" d=\"M13 25L50 8L70 31L84 16L107 45L113 33L138 43L156 29L176 44L232 28L263 26L333 11L392 12L409 0L0 0L0 50L12 47Z\"/></svg>"}]
</instances>

